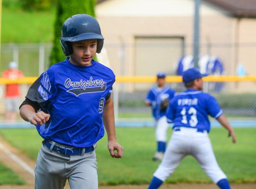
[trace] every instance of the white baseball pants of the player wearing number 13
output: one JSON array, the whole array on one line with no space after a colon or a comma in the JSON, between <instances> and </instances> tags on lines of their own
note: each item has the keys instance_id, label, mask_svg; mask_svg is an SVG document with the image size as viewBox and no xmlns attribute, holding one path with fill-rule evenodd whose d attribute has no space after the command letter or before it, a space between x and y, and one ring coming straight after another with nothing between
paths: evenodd
<instances>
[{"instance_id":1,"label":"white baseball pants of the player wearing number 13","mask_svg":"<svg viewBox=\"0 0 256 189\"><path fill-rule=\"evenodd\" d=\"M195 128L187 127L180 127L179 131L175 131L174 129L173 135L165 150L162 163L154 172L154 177L165 181L186 155L194 156L204 172L214 183L227 178L218 166L206 130L202 133L197 132Z\"/></svg>"}]
</instances>

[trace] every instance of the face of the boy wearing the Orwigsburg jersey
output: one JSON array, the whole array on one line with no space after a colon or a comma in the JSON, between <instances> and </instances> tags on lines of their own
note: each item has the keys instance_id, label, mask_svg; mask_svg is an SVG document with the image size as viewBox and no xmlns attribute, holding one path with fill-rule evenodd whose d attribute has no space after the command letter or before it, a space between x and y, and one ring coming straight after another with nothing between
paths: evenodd
<instances>
[{"instance_id":1,"label":"face of the boy wearing the Orwigsburg jersey","mask_svg":"<svg viewBox=\"0 0 256 189\"><path fill-rule=\"evenodd\" d=\"M79 66L90 66L97 50L97 39L87 39L72 42L73 53L69 62Z\"/></svg>"}]
</instances>

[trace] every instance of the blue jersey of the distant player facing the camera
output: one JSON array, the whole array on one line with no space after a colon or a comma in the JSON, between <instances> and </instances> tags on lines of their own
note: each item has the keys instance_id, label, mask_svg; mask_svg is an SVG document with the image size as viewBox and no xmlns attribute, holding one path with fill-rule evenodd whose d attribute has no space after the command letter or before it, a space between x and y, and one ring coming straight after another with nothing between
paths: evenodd
<instances>
[{"instance_id":1,"label":"blue jersey of the distant player facing the camera","mask_svg":"<svg viewBox=\"0 0 256 189\"><path fill-rule=\"evenodd\" d=\"M160 109L160 104L164 99L171 100L174 97L175 91L169 87L152 87L146 96L146 101L149 101L152 106L152 115L158 120L166 115L166 109Z\"/></svg>"}]
</instances>

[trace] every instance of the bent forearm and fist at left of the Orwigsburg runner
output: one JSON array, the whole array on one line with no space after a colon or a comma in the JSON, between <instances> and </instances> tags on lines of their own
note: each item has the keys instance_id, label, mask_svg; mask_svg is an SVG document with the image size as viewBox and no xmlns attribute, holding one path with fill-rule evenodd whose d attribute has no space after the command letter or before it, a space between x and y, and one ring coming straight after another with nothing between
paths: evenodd
<instances>
[{"instance_id":1,"label":"bent forearm and fist at left of the Orwigsburg runner","mask_svg":"<svg viewBox=\"0 0 256 189\"><path fill-rule=\"evenodd\" d=\"M35 112L35 109L28 104L24 104L20 107L20 116L25 121L29 121L31 124L38 126L46 123L50 119L50 114L44 113L43 111Z\"/></svg>"}]
</instances>

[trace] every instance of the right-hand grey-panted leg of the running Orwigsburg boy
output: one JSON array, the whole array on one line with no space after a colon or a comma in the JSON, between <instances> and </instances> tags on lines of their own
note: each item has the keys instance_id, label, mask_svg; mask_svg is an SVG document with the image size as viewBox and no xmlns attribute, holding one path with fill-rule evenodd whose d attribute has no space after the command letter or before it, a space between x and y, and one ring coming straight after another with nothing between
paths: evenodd
<instances>
[{"instance_id":1,"label":"right-hand grey-panted leg of the running Orwigsburg boy","mask_svg":"<svg viewBox=\"0 0 256 189\"><path fill-rule=\"evenodd\" d=\"M98 175L95 150L83 156L71 156L66 163L69 185L71 189L97 189Z\"/></svg>"}]
</instances>

